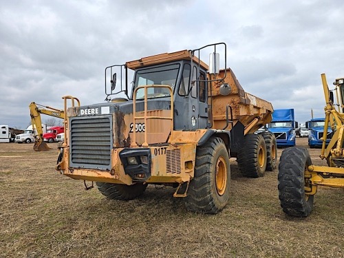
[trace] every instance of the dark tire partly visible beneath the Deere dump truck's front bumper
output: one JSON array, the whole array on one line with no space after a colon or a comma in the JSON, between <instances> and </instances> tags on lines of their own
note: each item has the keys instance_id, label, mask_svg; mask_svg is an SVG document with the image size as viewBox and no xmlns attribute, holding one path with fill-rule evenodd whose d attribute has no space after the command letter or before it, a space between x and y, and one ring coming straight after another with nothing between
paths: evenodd
<instances>
[{"instance_id":1,"label":"dark tire partly visible beneath the Deere dump truck's front bumper","mask_svg":"<svg viewBox=\"0 0 344 258\"><path fill-rule=\"evenodd\" d=\"M147 184L111 184L96 182L100 193L113 200L133 200L146 190Z\"/></svg>"}]
</instances>

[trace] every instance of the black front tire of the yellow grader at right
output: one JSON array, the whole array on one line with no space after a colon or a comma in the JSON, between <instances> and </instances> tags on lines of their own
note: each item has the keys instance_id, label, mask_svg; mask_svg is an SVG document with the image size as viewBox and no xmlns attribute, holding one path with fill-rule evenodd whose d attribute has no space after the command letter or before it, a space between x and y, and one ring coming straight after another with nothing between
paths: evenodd
<instances>
[{"instance_id":1,"label":"black front tire of the yellow grader at right","mask_svg":"<svg viewBox=\"0 0 344 258\"><path fill-rule=\"evenodd\" d=\"M313 208L314 195L305 195L305 169L312 164L306 149L291 147L279 160L278 189L283 211L294 217L307 217Z\"/></svg>"}]
</instances>

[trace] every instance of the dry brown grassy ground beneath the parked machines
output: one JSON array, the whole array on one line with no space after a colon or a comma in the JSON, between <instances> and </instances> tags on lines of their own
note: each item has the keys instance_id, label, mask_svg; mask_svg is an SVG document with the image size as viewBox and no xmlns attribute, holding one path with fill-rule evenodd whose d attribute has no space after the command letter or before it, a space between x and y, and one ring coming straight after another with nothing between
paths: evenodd
<instances>
[{"instance_id":1,"label":"dry brown grassy ground beneath the parked machines","mask_svg":"<svg viewBox=\"0 0 344 258\"><path fill-rule=\"evenodd\" d=\"M202 215L169 187L149 186L129 202L85 191L55 171L50 147L0 144L0 257L344 257L344 189L320 188L310 217L288 217L277 170L243 178L233 160L230 202ZM309 151L325 165L320 149Z\"/></svg>"}]
</instances>

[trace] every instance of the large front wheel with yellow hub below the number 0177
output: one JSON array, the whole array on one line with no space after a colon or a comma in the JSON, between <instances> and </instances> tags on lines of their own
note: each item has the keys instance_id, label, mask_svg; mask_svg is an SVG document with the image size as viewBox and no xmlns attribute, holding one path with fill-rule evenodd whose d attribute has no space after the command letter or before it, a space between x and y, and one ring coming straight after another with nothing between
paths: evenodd
<instances>
[{"instance_id":1,"label":"large front wheel with yellow hub below the number 0177","mask_svg":"<svg viewBox=\"0 0 344 258\"><path fill-rule=\"evenodd\" d=\"M189 185L185 205L189 211L216 214L229 199L230 162L221 138L211 138L196 149L195 176Z\"/></svg>"}]
</instances>

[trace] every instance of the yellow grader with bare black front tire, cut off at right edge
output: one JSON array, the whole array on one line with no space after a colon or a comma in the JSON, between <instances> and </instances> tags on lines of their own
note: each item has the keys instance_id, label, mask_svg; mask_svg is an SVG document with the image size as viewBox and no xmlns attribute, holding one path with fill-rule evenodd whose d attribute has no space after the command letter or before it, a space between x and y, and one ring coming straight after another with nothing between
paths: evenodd
<instances>
[{"instance_id":1,"label":"yellow grader with bare black front tire, cut off at right edge","mask_svg":"<svg viewBox=\"0 0 344 258\"><path fill-rule=\"evenodd\" d=\"M310 215L318 186L344 187L344 78L334 81L332 91L325 74L321 74L321 80L326 105L320 158L326 160L328 166L313 164L310 153L304 148L292 147L282 152L279 200L283 211L290 216ZM337 104L334 104L334 92ZM332 131L328 130L330 127ZM328 145L327 138L331 138Z\"/></svg>"}]
</instances>

